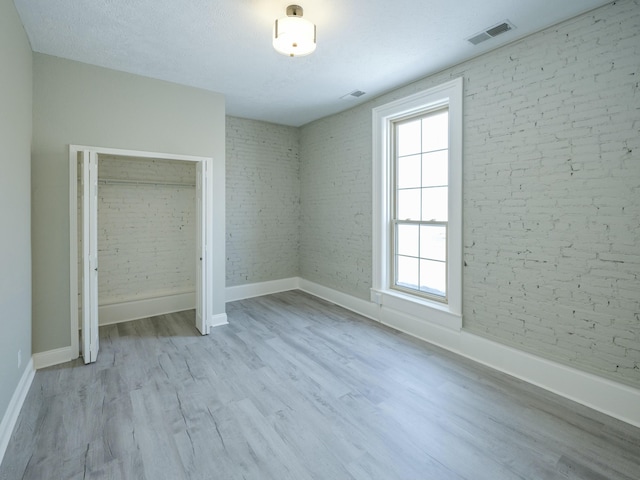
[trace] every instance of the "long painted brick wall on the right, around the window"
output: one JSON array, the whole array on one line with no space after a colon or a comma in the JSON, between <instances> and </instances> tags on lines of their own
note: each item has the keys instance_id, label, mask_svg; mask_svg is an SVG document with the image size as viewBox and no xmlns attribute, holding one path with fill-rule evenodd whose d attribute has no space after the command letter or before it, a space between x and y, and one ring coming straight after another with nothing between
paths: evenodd
<instances>
[{"instance_id":1,"label":"long painted brick wall on the right, around the window","mask_svg":"<svg viewBox=\"0 0 640 480\"><path fill-rule=\"evenodd\" d=\"M638 0L302 127L301 276L368 298L371 109L459 76L464 328L640 387Z\"/></svg>"}]
</instances>

